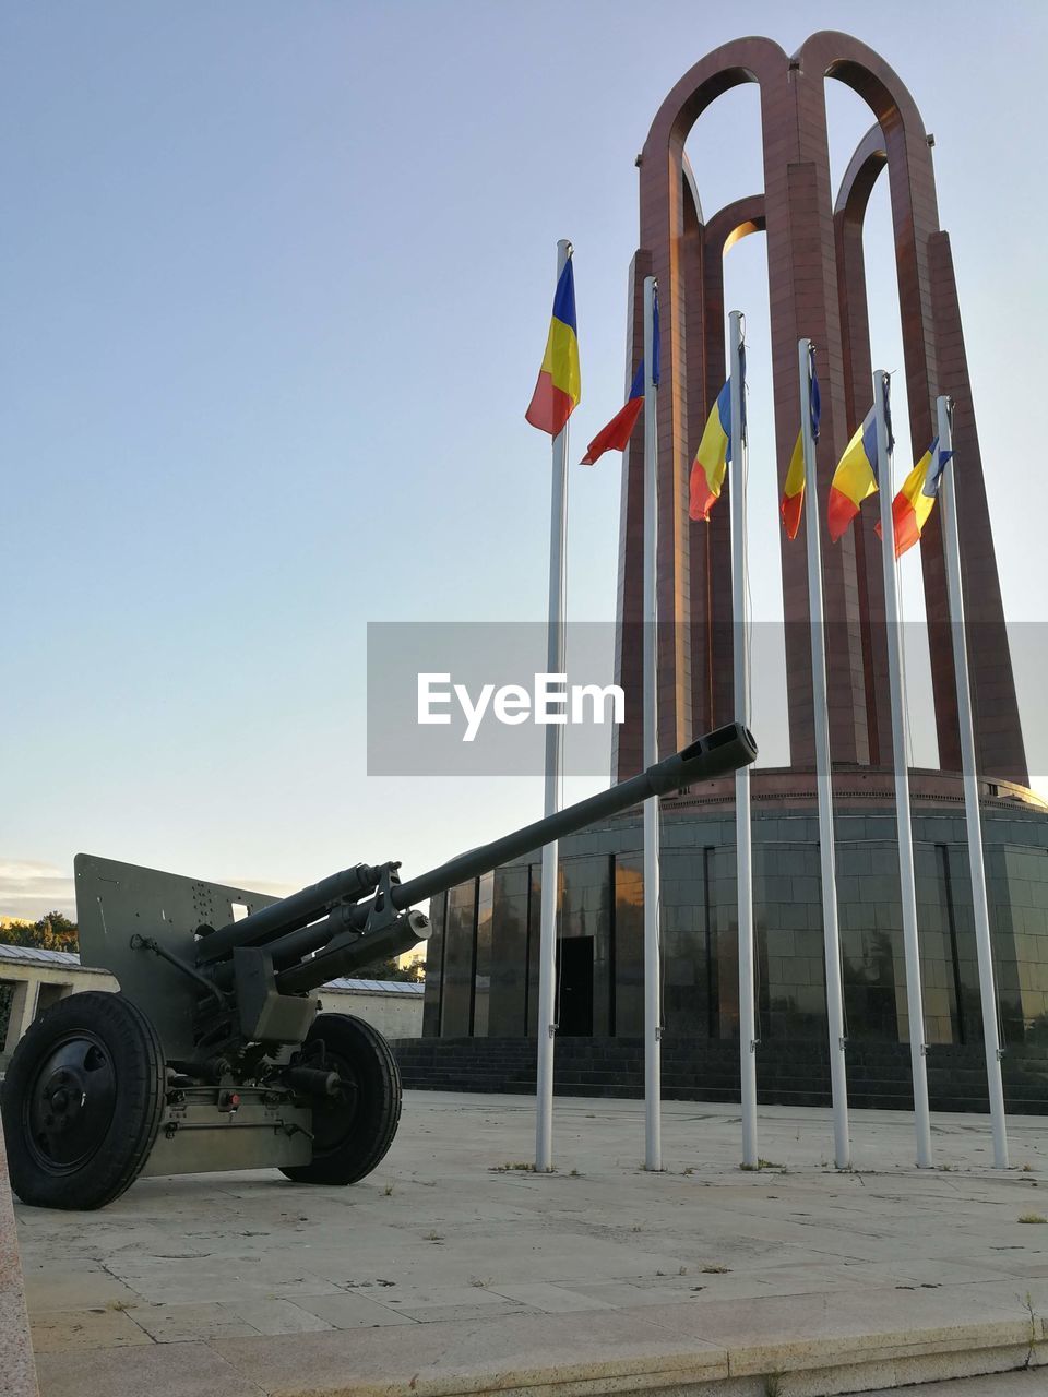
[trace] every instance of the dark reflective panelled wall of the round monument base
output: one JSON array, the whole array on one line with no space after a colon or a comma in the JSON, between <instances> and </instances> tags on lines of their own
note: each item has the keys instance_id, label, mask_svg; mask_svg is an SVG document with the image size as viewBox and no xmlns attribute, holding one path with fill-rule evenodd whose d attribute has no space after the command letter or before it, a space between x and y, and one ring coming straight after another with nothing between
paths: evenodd
<instances>
[{"instance_id":1,"label":"dark reflective panelled wall of the round monument base","mask_svg":"<svg viewBox=\"0 0 1048 1397\"><path fill-rule=\"evenodd\" d=\"M894 814L837 813L837 897L850 1039L907 1042L910 1024ZM560 842L558 1018L562 1032L644 1031L644 880L639 817ZM662 816L662 1016L668 1032L738 1037L735 823L727 812ZM984 812L994 958L1005 1042L1048 1044L1048 816ZM963 814L915 807L925 1039L982 1037ZM534 1037L541 862L532 855L433 900L428 1037ZM826 1034L822 890L813 812L755 812L759 1031ZM570 944L567 944L570 943Z\"/></svg>"}]
</instances>

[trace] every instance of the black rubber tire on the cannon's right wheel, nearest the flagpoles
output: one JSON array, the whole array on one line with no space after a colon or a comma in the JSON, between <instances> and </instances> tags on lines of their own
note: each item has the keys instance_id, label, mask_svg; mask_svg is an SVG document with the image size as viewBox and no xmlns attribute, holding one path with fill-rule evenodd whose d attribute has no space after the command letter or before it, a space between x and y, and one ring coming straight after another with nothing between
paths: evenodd
<instances>
[{"instance_id":1,"label":"black rubber tire on the cannon's right wheel, nearest the flagpoles","mask_svg":"<svg viewBox=\"0 0 1048 1397\"><path fill-rule=\"evenodd\" d=\"M377 1028L352 1014L321 1014L305 1046L323 1039L328 1066L356 1090L348 1099L314 1102L313 1160L282 1169L295 1183L356 1183L393 1144L400 1123L397 1059Z\"/></svg>"}]
</instances>

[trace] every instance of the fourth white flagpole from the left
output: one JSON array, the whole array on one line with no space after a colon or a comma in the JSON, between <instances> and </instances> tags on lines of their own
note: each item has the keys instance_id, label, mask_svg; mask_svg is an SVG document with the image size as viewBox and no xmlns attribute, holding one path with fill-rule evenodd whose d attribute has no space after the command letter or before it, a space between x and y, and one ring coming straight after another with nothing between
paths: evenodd
<instances>
[{"instance_id":1,"label":"fourth white flagpole from the left","mask_svg":"<svg viewBox=\"0 0 1048 1397\"><path fill-rule=\"evenodd\" d=\"M805 453L805 536L808 539L808 615L812 631L812 705L815 719L815 770L819 791L819 856L823 893L823 944L826 949L826 1020L830 1034L830 1092L833 1099L833 1151L838 1169L851 1166L848 1132L848 1076L844 1062L844 993L841 989L841 939L837 923L837 859L833 837L833 775L830 719L826 711L826 630L823 617L823 557L819 539L819 492L812 436L812 341L798 341L801 373L801 441Z\"/></svg>"}]
</instances>

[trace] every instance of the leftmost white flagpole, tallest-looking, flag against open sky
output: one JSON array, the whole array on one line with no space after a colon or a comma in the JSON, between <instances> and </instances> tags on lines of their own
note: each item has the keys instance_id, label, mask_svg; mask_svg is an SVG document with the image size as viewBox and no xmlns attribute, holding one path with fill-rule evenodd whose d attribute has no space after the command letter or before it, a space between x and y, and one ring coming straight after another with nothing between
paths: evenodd
<instances>
[{"instance_id":1,"label":"leftmost white flagpole, tallest-looking, flag against open sky","mask_svg":"<svg viewBox=\"0 0 1048 1397\"><path fill-rule=\"evenodd\" d=\"M572 244L556 244L556 279L567 265ZM553 485L549 522L549 619L546 623L546 672L565 672L565 542L567 536L567 423L553 437ZM560 803L560 724L546 726L545 814ZM559 849L556 841L542 849L542 907L538 963L538 1073L535 1083L535 1169L553 1168L553 1039L556 1035L556 902Z\"/></svg>"}]
</instances>

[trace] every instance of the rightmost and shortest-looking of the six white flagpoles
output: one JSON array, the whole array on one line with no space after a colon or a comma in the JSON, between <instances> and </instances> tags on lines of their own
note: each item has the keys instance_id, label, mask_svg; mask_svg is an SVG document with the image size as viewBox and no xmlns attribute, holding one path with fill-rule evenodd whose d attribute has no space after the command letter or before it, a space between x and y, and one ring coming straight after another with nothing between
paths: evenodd
<instances>
[{"instance_id":1,"label":"rightmost and shortest-looking of the six white flagpoles","mask_svg":"<svg viewBox=\"0 0 1048 1397\"><path fill-rule=\"evenodd\" d=\"M939 415L939 450L953 450L953 414L949 398L936 401ZM932 462L935 464L935 462ZM982 999L982 1042L987 1053L987 1087L989 1090L989 1120L994 1132L994 1166L1007 1168L1007 1126L1005 1123L1005 1088L1000 1080L1000 1035L998 1030L998 1000L994 985L994 953L989 940L989 907L987 902L987 866L982 858L982 820L980 816L980 788L975 773L975 733L971 721L971 687L968 683L968 650L964 627L964 597L961 591L960 538L957 532L957 492L953 485L956 460L947 464L939 481L939 510L942 518L943 562L946 564L946 594L950 602L950 630L953 633L953 668L957 676L957 726L960 729L961 770L964 773L964 814L968 824L968 866L971 869L971 908L975 915L975 950L980 967L980 995Z\"/></svg>"}]
</instances>

